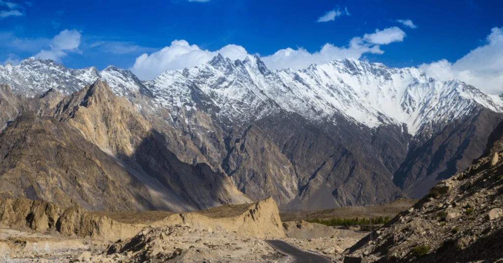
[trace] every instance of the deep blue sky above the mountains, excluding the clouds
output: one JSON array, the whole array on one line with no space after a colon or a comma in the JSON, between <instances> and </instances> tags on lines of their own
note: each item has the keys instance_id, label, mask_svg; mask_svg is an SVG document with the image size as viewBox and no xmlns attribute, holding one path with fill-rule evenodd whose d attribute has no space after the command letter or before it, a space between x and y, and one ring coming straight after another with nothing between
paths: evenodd
<instances>
[{"instance_id":1,"label":"deep blue sky above the mountains, excluding the clouds","mask_svg":"<svg viewBox=\"0 0 503 263\"><path fill-rule=\"evenodd\" d=\"M103 69L109 64L128 68L140 54L169 46L175 39L211 51L236 44L250 54L270 55L287 47L314 52L325 43L345 46L353 37L393 26L406 33L403 42L382 46L382 55L364 57L388 66L416 66L440 59L454 62L483 45L491 28L503 26L503 1L10 2L18 3L16 10L23 15L0 18L0 41L16 39L26 47L0 44L0 62L32 56L47 49L44 39L76 29L81 34L79 51L61 58L72 68L94 65ZM337 7L347 7L351 15L316 23ZM404 27L397 19L410 19L417 28ZM91 47L99 41L131 49L114 54L113 45Z\"/></svg>"}]
</instances>

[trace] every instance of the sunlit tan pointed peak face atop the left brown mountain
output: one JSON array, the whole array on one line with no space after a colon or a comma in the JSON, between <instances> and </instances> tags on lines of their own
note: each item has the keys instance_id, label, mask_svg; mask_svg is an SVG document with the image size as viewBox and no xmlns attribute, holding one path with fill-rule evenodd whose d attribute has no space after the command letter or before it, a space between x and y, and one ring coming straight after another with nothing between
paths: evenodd
<instances>
[{"instance_id":1,"label":"sunlit tan pointed peak face atop the left brown mountain","mask_svg":"<svg viewBox=\"0 0 503 263\"><path fill-rule=\"evenodd\" d=\"M64 98L54 116L113 154L131 155L151 129L134 105L116 96L101 80Z\"/></svg>"}]
</instances>

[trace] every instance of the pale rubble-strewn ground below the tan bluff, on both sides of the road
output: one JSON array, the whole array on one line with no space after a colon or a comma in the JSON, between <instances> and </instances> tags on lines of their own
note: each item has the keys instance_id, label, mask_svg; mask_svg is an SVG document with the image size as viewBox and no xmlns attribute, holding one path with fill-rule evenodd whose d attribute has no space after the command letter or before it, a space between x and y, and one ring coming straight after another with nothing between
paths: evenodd
<instances>
[{"instance_id":1,"label":"pale rubble-strewn ground below the tan bluff, on both sides of the road","mask_svg":"<svg viewBox=\"0 0 503 263\"><path fill-rule=\"evenodd\" d=\"M309 224L309 223L308 223ZM325 227L319 225L319 227ZM348 230L349 231L349 230ZM354 245L353 237L280 238L304 251L335 256ZM116 249L116 251L114 251ZM64 237L22 229L0 229L0 262L281 262L286 256L264 239L186 225L145 228L117 242Z\"/></svg>"}]
</instances>

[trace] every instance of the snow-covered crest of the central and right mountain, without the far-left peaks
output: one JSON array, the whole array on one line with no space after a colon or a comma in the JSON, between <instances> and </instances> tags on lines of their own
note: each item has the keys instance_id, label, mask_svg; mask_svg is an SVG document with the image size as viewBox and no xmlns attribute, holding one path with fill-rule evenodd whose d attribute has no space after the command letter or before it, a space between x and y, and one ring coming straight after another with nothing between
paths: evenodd
<instances>
[{"instance_id":1,"label":"snow-covered crest of the central and right mountain, without the far-left peaks","mask_svg":"<svg viewBox=\"0 0 503 263\"><path fill-rule=\"evenodd\" d=\"M193 103L187 99L195 85L229 118L260 118L282 109L312 121L343 115L369 127L406 124L410 134L480 107L503 112L499 97L464 82L437 81L414 67L356 59L272 71L256 56L235 61L216 56L184 72L166 71L146 85L164 105L175 107Z\"/></svg>"}]
</instances>

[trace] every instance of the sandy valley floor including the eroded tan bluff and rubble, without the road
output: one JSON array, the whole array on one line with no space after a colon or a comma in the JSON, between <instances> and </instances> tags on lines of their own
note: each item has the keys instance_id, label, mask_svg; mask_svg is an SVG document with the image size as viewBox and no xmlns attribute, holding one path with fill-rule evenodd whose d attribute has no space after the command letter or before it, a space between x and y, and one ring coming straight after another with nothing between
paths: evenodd
<instances>
[{"instance_id":1,"label":"sandy valley floor including the eroded tan bluff and rubble, without the road","mask_svg":"<svg viewBox=\"0 0 503 263\"><path fill-rule=\"evenodd\" d=\"M0 211L0 262L8 263L284 262L287 256L266 240L281 240L340 261L347 248L368 234L303 220L281 221L272 198L181 214L87 212L28 199L0 201L5 208ZM305 213L334 216L338 211L354 210L360 212L347 216L360 216L371 208L374 213L392 216L410 204L400 200L383 206Z\"/></svg>"}]
</instances>

